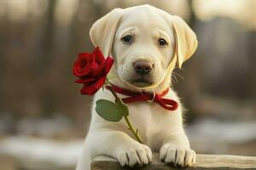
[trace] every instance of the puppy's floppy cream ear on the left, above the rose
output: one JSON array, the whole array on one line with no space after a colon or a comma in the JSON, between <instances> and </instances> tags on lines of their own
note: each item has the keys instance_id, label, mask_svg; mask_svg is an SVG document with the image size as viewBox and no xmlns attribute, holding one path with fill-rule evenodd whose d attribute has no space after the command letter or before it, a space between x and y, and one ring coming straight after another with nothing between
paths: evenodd
<instances>
[{"instance_id":1,"label":"puppy's floppy cream ear on the left, above the rose","mask_svg":"<svg viewBox=\"0 0 256 170\"><path fill-rule=\"evenodd\" d=\"M102 49L104 56L111 54L113 38L119 26L124 9L114 8L108 14L103 16L90 28L90 40Z\"/></svg>"}]
</instances>

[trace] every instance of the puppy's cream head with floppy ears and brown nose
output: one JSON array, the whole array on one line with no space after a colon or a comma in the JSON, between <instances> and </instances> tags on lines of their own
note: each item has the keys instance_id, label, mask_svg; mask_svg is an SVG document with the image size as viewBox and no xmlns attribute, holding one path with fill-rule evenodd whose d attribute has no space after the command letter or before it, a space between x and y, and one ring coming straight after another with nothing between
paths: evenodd
<instances>
[{"instance_id":1,"label":"puppy's cream head with floppy ears and brown nose","mask_svg":"<svg viewBox=\"0 0 256 170\"><path fill-rule=\"evenodd\" d=\"M197 47L181 18L149 5L113 9L91 27L90 38L115 58L112 70L119 79L141 89L156 87Z\"/></svg>"}]
</instances>

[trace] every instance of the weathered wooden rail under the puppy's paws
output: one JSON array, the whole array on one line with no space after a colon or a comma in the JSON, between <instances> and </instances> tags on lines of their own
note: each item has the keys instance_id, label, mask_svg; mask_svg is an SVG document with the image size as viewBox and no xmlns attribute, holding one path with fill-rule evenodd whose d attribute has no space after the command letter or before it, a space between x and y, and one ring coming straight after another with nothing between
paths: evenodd
<instances>
[{"instance_id":1,"label":"weathered wooden rail under the puppy's paws","mask_svg":"<svg viewBox=\"0 0 256 170\"><path fill-rule=\"evenodd\" d=\"M107 156L98 156L91 163L92 170L124 170L129 167L121 167L117 161ZM134 168L133 168L134 169ZM159 160L159 154L154 153L152 163L145 167L137 167L143 170L174 170L177 169ZM254 156L230 156L230 155L201 155L197 154L196 163L193 167L183 168L184 170L230 170L230 169L254 169L256 170L256 157Z\"/></svg>"}]
</instances>

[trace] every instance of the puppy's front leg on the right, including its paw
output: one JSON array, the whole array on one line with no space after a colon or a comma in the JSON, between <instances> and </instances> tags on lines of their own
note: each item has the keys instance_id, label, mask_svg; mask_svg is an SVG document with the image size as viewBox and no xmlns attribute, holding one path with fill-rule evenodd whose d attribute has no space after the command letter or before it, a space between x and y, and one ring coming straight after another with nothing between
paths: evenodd
<instances>
[{"instance_id":1,"label":"puppy's front leg on the right, including its paw","mask_svg":"<svg viewBox=\"0 0 256 170\"><path fill-rule=\"evenodd\" d=\"M169 134L160 149L160 159L175 167L187 167L195 163L195 151L190 150L185 133Z\"/></svg>"}]
</instances>

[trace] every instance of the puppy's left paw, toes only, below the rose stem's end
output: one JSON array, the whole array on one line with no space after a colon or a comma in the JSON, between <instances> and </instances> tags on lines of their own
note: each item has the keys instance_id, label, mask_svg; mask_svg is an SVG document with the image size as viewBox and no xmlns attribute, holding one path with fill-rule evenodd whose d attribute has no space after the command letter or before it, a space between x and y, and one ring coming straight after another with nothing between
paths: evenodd
<instances>
[{"instance_id":1,"label":"puppy's left paw, toes only, below the rose stem's end","mask_svg":"<svg viewBox=\"0 0 256 170\"><path fill-rule=\"evenodd\" d=\"M152 152L147 145L137 144L120 148L117 153L117 159L123 167L125 165L142 167L152 161Z\"/></svg>"}]
</instances>

